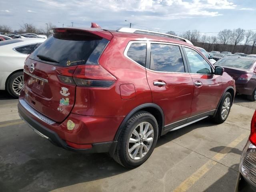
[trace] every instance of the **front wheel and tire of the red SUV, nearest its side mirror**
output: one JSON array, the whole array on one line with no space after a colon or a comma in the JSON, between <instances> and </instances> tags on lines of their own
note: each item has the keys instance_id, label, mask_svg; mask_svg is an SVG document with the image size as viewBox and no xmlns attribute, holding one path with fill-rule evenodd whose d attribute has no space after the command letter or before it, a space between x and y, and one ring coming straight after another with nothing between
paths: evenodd
<instances>
[{"instance_id":1,"label":"front wheel and tire of the red SUV, nearest its side mirror","mask_svg":"<svg viewBox=\"0 0 256 192\"><path fill-rule=\"evenodd\" d=\"M220 101L220 105L218 106L218 109L217 109L216 115L213 118L213 121L217 124L223 123L228 118L231 105L232 105L232 96L230 92L226 92Z\"/></svg>"}]
</instances>

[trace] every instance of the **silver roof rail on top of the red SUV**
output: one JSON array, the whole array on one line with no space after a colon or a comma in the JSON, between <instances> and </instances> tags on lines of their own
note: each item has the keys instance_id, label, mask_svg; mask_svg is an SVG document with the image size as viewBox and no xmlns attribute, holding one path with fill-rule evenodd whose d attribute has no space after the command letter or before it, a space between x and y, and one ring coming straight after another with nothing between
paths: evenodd
<instances>
[{"instance_id":1,"label":"silver roof rail on top of the red SUV","mask_svg":"<svg viewBox=\"0 0 256 192\"><path fill-rule=\"evenodd\" d=\"M174 38L174 39L178 39L178 40L181 40L181 41L184 41L184 42L187 42L187 43L193 45L192 42L190 42L189 40L184 39L182 37L178 37L178 36L170 35L170 34L166 34L166 33L160 33L160 32L156 32L156 31L148 31L148 30L142 30L142 29L126 28L126 27L120 28L116 31L127 32L127 33L136 33L136 34L146 34L146 35L160 36L160 37L166 37L166 38Z\"/></svg>"}]
</instances>

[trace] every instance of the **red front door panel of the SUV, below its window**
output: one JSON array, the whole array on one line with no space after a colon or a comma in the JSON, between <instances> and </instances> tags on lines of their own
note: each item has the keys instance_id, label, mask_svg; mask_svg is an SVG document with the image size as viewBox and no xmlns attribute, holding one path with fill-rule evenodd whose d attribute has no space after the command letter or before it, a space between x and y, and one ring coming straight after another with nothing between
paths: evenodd
<instances>
[{"instance_id":1,"label":"red front door panel of the SUV, below its window","mask_svg":"<svg viewBox=\"0 0 256 192\"><path fill-rule=\"evenodd\" d=\"M191 116L217 108L222 95L222 78L220 75L190 74L193 82L202 82L201 87L194 86Z\"/></svg>"}]
</instances>

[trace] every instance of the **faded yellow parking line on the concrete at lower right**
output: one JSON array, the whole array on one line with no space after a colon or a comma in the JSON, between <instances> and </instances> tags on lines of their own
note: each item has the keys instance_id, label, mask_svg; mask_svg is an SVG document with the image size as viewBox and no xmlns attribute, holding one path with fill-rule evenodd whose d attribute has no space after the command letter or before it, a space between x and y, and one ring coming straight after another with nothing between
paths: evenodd
<instances>
[{"instance_id":1,"label":"faded yellow parking line on the concrete at lower right","mask_svg":"<svg viewBox=\"0 0 256 192\"><path fill-rule=\"evenodd\" d=\"M186 178L177 188L173 190L173 192L186 192L190 187L192 187L195 182L197 182L204 174L206 174L214 165L217 164L217 161L221 160L234 148L237 146L244 138L248 137L247 134L241 134L238 138L232 141L228 146L218 152L214 157L213 160L209 160L200 167L196 172L194 172L190 177Z\"/></svg>"}]
</instances>

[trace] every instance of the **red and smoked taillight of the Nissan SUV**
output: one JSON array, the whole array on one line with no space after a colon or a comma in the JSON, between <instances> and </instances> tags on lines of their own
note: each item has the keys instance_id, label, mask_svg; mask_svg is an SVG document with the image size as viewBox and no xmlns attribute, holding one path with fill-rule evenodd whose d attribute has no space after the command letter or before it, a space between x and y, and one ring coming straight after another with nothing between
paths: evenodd
<instances>
[{"instance_id":1,"label":"red and smoked taillight of the Nissan SUV","mask_svg":"<svg viewBox=\"0 0 256 192\"><path fill-rule=\"evenodd\" d=\"M56 70L64 83L86 87L110 87L117 80L100 65L79 65Z\"/></svg>"}]
</instances>

